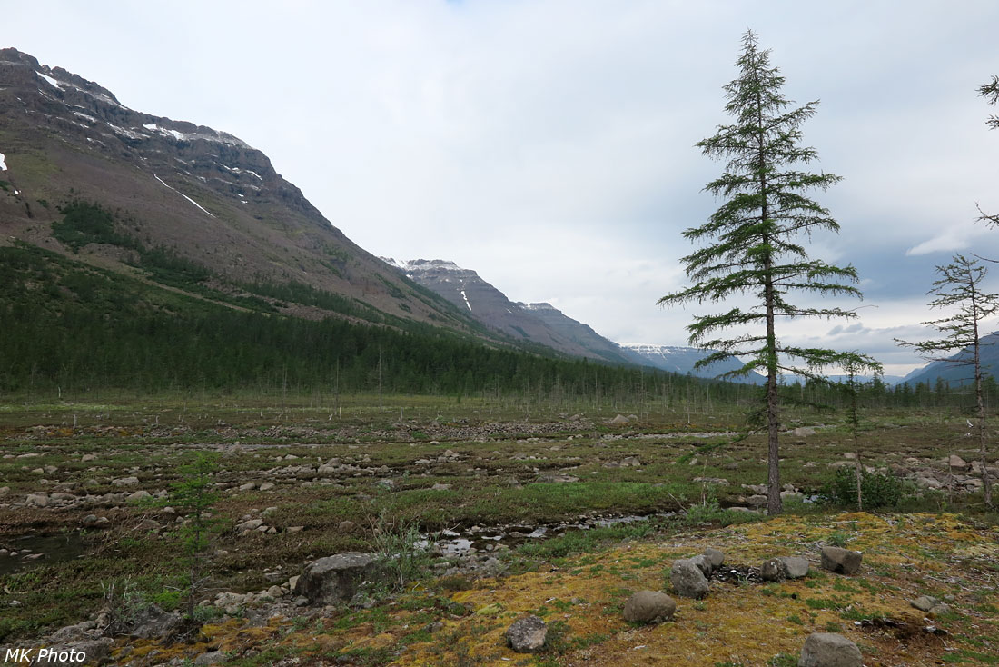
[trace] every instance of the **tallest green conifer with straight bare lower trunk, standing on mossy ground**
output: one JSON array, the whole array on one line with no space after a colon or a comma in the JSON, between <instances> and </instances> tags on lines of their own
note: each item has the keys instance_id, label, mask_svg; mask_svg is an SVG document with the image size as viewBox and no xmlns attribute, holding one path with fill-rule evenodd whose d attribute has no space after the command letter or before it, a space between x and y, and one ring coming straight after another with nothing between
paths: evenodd
<instances>
[{"instance_id":1,"label":"tallest green conifer with straight bare lower trunk, standing on mossy ground","mask_svg":"<svg viewBox=\"0 0 999 667\"><path fill-rule=\"evenodd\" d=\"M767 511L781 511L778 434L780 431L781 373L817 378L823 367L876 366L869 357L848 352L804 348L778 340L777 321L802 317L856 317L849 310L797 306L787 300L790 292L813 292L821 297L860 297L851 283L852 266L837 267L808 258L802 238L812 233L838 231L828 210L804 193L825 190L838 176L801 169L817 159L815 149L801 146L801 125L815 113L818 102L791 108L781 93L784 78L770 66L770 52L760 50L756 35L742 38L742 55L736 61L739 77L724 87L725 111L731 125L697 146L713 159L727 159L724 173L704 189L724 199L707 223L683 235L703 247L683 258L693 284L659 299L659 305L695 301L719 302L748 293L755 299L748 308L734 307L718 315L696 316L687 327L691 345L717 350L698 366L729 356L749 358L734 374L761 370L766 374L762 408L756 424L765 421L768 433ZM713 338L722 329L747 327L741 335ZM732 375L732 374L729 374Z\"/></svg>"}]
</instances>

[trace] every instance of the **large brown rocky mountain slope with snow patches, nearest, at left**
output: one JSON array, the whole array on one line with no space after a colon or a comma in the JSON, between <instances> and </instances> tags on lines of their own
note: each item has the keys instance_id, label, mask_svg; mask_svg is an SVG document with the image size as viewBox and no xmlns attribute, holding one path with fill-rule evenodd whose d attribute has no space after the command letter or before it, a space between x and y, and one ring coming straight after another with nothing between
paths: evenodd
<instances>
[{"instance_id":1,"label":"large brown rocky mountain slope with snow patches, nearest, at left","mask_svg":"<svg viewBox=\"0 0 999 667\"><path fill-rule=\"evenodd\" d=\"M489 337L347 238L261 151L129 109L99 84L11 48L0 50L0 154L2 246L154 280L157 263L173 262L189 278L174 286L205 298Z\"/></svg>"}]
</instances>

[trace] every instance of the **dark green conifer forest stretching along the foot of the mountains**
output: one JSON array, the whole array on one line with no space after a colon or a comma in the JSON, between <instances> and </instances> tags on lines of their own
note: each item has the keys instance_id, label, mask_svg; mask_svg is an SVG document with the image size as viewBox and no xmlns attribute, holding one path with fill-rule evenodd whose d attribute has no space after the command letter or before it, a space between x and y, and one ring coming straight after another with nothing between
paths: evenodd
<instances>
[{"instance_id":1,"label":"dark green conifer forest stretching along the foot of the mountains","mask_svg":"<svg viewBox=\"0 0 999 667\"><path fill-rule=\"evenodd\" d=\"M37 246L0 248L0 391L79 394L250 390L453 396L612 398L664 408L749 401L755 388L652 369L566 359L540 349L488 344L471 335L388 318L309 285L229 283L171 249L147 247L100 206L72 202L53 225L80 251L103 243L130 253L134 276L105 271ZM288 304L322 307L325 319L283 315ZM989 379L986 395L996 395ZM783 387L789 399L839 405L836 387ZM872 408L960 407L944 383L890 388L874 381Z\"/></svg>"}]
</instances>

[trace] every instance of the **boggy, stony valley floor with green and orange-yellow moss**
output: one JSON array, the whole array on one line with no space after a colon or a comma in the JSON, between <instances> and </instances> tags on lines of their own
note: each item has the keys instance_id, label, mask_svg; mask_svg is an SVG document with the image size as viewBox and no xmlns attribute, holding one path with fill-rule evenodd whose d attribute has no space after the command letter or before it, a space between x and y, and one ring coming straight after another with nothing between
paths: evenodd
<instances>
[{"instance_id":1,"label":"boggy, stony valley floor with green and orange-yellow moss","mask_svg":"<svg viewBox=\"0 0 999 667\"><path fill-rule=\"evenodd\" d=\"M765 442L731 442L729 416L386 405L7 404L0 645L136 667L792 665L835 632L868 665L999 664L999 529L957 412L871 414L859 443L834 415L795 414L785 511L768 518ZM868 512L831 491L858 445L894 489ZM201 524L178 494L197 461L207 540L192 549ZM829 545L861 552L860 570L820 568ZM622 618L707 548L725 565L706 597L676 597L665 623ZM384 567L341 602L304 594L307 566L344 553ZM761 581L778 556L808 575ZM197 627L182 627L192 590ZM913 606L926 596L944 606ZM506 644L524 615L547 625L539 652Z\"/></svg>"}]
</instances>

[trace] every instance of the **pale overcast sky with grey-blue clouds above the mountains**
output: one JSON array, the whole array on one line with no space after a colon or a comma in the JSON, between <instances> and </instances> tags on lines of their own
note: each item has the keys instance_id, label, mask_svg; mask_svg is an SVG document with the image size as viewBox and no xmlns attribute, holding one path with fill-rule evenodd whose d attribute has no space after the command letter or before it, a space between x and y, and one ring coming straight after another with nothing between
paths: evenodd
<instances>
[{"instance_id":1,"label":"pale overcast sky with grey-blue clouds above the mountains","mask_svg":"<svg viewBox=\"0 0 999 667\"><path fill-rule=\"evenodd\" d=\"M999 258L999 3L864 0L0 0L0 47L133 109L238 136L375 255L447 259L513 301L547 301L618 342L682 345L682 237L721 204L695 144L728 123L746 29L803 126L840 224L809 255L856 267L855 319L797 320L796 344L923 365L934 267ZM986 289L999 291L999 267ZM748 303L748 302L743 302ZM986 330L995 323L986 323ZM732 333L737 333L733 331Z\"/></svg>"}]
</instances>

